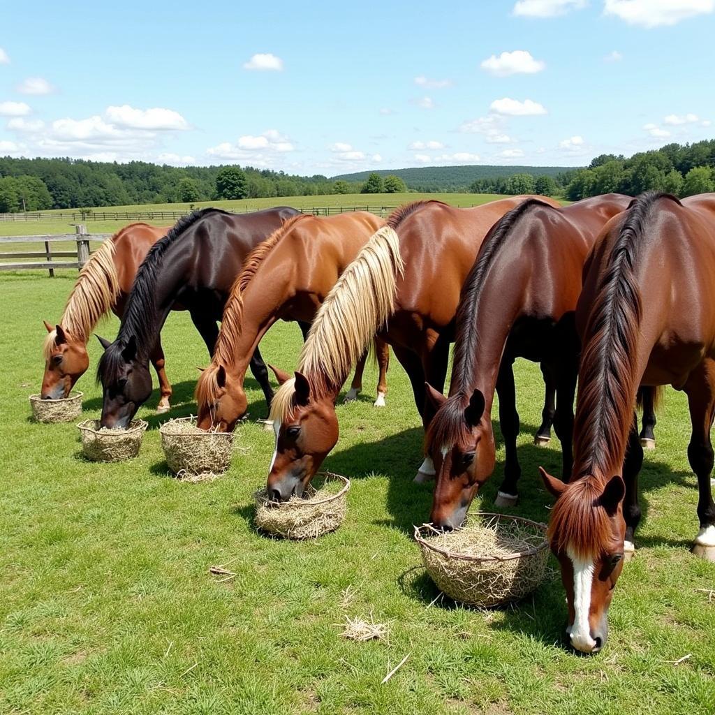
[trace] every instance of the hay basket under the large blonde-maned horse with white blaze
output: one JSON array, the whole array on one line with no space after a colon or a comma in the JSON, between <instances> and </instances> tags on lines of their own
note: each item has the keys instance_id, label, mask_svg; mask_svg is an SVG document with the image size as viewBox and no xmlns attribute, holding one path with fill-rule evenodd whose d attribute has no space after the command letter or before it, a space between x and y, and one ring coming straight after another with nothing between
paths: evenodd
<instances>
[{"instance_id":1,"label":"hay basket under the large blonde-maned horse with white blaze","mask_svg":"<svg viewBox=\"0 0 715 715\"><path fill-rule=\"evenodd\" d=\"M302 497L293 496L285 502L272 501L261 489L255 494L255 525L271 536L317 538L342 524L349 490L349 479L330 472L318 473Z\"/></svg>"}]
</instances>

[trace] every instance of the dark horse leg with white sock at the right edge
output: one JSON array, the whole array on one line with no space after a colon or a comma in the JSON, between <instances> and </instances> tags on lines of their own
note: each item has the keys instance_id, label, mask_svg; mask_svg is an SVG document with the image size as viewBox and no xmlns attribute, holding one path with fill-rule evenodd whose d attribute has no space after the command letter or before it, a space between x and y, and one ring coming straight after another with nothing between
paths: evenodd
<instances>
[{"instance_id":1,"label":"dark horse leg with white sock at the right edge","mask_svg":"<svg viewBox=\"0 0 715 715\"><path fill-rule=\"evenodd\" d=\"M694 370L684 388L688 395L693 433L688 445L688 460L698 478L698 518L700 530L692 551L706 561L715 561L715 503L710 473L714 453L710 430L715 415L715 360L704 360Z\"/></svg>"}]
</instances>

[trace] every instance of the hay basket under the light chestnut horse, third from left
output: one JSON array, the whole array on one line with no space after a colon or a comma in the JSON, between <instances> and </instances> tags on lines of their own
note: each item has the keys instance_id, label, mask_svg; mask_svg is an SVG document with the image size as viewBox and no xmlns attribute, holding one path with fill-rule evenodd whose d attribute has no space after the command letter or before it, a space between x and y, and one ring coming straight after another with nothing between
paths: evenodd
<instances>
[{"instance_id":1,"label":"hay basket under the light chestnut horse, third from left","mask_svg":"<svg viewBox=\"0 0 715 715\"><path fill-rule=\"evenodd\" d=\"M179 478L200 481L222 475L231 463L232 432L199 430L196 418L182 417L159 428L169 469Z\"/></svg>"}]
</instances>

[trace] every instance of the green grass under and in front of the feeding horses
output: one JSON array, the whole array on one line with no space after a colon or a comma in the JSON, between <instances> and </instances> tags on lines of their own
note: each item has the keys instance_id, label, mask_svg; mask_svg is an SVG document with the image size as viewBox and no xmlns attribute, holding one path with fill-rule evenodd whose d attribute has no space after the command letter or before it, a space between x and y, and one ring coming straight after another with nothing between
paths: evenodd
<instances>
[{"instance_id":1,"label":"green grass under and in front of the feeding horses","mask_svg":"<svg viewBox=\"0 0 715 715\"><path fill-rule=\"evenodd\" d=\"M0 712L3 714L682 714L715 711L715 566L691 556L696 489L686 460L682 395L669 391L658 449L642 475L638 555L618 583L611 639L593 658L563 646L563 591L554 576L515 608L476 611L439 599L420 565L413 523L430 485L412 482L421 430L396 361L388 407L365 397L338 408L341 436L327 467L352 478L347 521L315 543L259 536L252 493L264 483L272 435L240 428L247 448L225 477L167 477L152 407L139 458L79 458L74 425L37 425L41 318L56 320L76 274L0 277L3 435L0 513ZM112 337L116 322L100 334ZM290 369L295 325L267 335L267 360ZM99 345L90 344L92 370ZM194 410L196 365L207 355L185 315L164 330L174 415ZM536 475L560 455L531 445L541 375L520 363L522 499L545 520L551 498ZM85 375L84 416L100 393ZM252 420L265 415L248 382ZM482 504L498 487L503 450ZM220 583L209 566L237 577ZM385 641L340 637L345 616L388 623ZM410 658L390 681L385 674ZM681 664L674 664L689 656Z\"/></svg>"}]
</instances>

